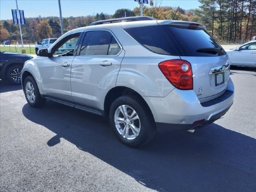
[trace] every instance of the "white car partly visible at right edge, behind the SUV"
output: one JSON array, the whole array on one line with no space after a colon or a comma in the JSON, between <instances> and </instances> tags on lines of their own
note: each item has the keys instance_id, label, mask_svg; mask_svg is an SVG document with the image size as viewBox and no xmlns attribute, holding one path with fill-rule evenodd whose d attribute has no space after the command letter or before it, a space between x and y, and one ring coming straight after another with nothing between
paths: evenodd
<instances>
[{"instance_id":1,"label":"white car partly visible at right edge, behind the SUV","mask_svg":"<svg viewBox=\"0 0 256 192\"><path fill-rule=\"evenodd\" d=\"M256 41L250 41L227 50L232 66L256 67Z\"/></svg>"}]
</instances>

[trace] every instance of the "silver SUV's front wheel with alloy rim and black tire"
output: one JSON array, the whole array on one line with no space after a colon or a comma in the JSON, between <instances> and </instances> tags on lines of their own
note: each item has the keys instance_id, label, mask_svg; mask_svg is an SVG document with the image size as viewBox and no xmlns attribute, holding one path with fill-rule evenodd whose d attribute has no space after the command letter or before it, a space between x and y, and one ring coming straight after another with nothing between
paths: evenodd
<instances>
[{"instance_id":1,"label":"silver SUV's front wheel with alloy rim and black tire","mask_svg":"<svg viewBox=\"0 0 256 192\"><path fill-rule=\"evenodd\" d=\"M41 96L39 88L32 76L27 76L23 83L23 92L28 104L31 107L42 107L45 103L45 99Z\"/></svg>"}]
</instances>

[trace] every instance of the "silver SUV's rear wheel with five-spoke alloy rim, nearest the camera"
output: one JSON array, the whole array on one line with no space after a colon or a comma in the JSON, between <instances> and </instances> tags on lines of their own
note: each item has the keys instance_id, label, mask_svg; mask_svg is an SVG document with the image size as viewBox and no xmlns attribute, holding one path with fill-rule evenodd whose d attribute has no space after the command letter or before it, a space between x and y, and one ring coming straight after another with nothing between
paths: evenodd
<instances>
[{"instance_id":1,"label":"silver SUV's rear wheel with five-spoke alloy rim, nearest the camera","mask_svg":"<svg viewBox=\"0 0 256 192\"><path fill-rule=\"evenodd\" d=\"M114 100L109 121L121 143L129 147L140 147L156 134L151 111L137 96L121 96Z\"/></svg>"}]
</instances>

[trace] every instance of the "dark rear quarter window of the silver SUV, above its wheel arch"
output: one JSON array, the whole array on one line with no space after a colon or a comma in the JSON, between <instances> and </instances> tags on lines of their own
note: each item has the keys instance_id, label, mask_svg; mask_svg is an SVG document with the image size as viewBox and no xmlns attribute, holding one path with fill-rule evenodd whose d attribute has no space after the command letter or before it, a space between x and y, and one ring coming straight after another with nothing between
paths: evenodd
<instances>
[{"instance_id":1,"label":"dark rear quarter window of the silver SUV, above its wheel arch","mask_svg":"<svg viewBox=\"0 0 256 192\"><path fill-rule=\"evenodd\" d=\"M180 50L175 46L175 42L168 37L159 25L126 28L124 30L152 52L162 55L181 55Z\"/></svg>"}]
</instances>

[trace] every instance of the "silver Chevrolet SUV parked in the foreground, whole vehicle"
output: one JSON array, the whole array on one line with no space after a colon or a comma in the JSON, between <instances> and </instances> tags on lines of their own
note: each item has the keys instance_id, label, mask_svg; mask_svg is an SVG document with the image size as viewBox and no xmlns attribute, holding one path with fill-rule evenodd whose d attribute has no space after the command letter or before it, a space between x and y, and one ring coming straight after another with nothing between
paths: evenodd
<instances>
[{"instance_id":1,"label":"silver Chevrolet SUV parked in the foreground, whole vehicle","mask_svg":"<svg viewBox=\"0 0 256 192\"><path fill-rule=\"evenodd\" d=\"M234 97L228 56L202 25L148 17L67 32L25 63L22 85L32 107L49 99L108 117L130 147L149 142L157 128L212 123Z\"/></svg>"}]
</instances>

